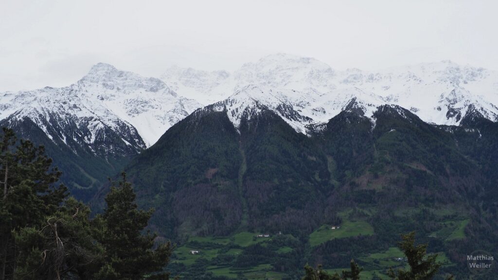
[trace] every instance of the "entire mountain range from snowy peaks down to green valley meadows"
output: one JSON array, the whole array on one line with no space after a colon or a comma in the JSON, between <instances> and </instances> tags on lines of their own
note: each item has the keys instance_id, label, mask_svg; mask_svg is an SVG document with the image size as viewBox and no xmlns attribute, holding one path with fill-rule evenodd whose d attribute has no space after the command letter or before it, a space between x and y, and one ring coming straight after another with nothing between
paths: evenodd
<instances>
[{"instance_id":1,"label":"entire mountain range from snowy peaks down to green valley meadows","mask_svg":"<svg viewBox=\"0 0 498 280\"><path fill-rule=\"evenodd\" d=\"M94 210L124 169L138 205L156 209L149 228L178 242L173 272L193 279L216 279L208 267L290 277L359 256L385 275L393 261L374 254L397 256L392 241L413 230L442 272L466 275L463 256L498 245L497 77L281 54L164 81L97 64L69 87L4 93L0 125L43 144ZM199 248L210 255L188 254Z\"/></svg>"}]
</instances>

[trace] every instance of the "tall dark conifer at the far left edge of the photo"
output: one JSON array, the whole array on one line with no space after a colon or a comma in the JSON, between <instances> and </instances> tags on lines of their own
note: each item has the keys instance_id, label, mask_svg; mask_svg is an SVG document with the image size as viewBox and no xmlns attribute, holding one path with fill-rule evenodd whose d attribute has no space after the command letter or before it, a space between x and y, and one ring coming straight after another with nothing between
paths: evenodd
<instances>
[{"instance_id":1,"label":"tall dark conifer at the far left edge of the photo","mask_svg":"<svg viewBox=\"0 0 498 280\"><path fill-rule=\"evenodd\" d=\"M61 173L43 146L20 140L3 128L0 140L0 280L12 279L16 269L16 244L12 231L41 225L57 211L67 188L56 186Z\"/></svg>"}]
</instances>

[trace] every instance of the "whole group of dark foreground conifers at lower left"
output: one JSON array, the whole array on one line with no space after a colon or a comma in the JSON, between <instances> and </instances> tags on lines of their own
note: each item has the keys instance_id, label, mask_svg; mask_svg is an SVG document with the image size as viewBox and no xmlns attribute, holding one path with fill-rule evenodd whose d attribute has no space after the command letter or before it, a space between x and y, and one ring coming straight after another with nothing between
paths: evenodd
<instances>
[{"instance_id":1,"label":"whole group of dark foreground conifers at lower left","mask_svg":"<svg viewBox=\"0 0 498 280\"><path fill-rule=\"evenodd\" d=\"M0 139L0 280L168 280L172 246L144 232L153 209L138 209L123 173L102 214L58 184L43 146Z\"/></svg>"}]
</instances>

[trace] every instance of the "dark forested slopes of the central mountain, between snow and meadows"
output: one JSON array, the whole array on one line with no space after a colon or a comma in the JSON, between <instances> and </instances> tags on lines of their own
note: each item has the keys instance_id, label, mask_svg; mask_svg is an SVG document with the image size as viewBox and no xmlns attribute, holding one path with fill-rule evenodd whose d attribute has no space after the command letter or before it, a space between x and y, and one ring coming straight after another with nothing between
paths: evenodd
<instances>
[{"instance_id":1,"label":"dark forested slopes of the central mountain, between snow and meadows","mask_svg":"<svg viewBox=\"0 0 498 280\"><path fill-rule=\"evenodd\" d=\"M197 110L126 167L139 199L178 215L159 223L175 234L310 231L341 207L468 205L491 191L493 172L453 132L477 128L441 129L389 105L373 122L352 101L305 136L257 102L234 126L220 109L232 100Z\"/></svg>"}]
</instances>

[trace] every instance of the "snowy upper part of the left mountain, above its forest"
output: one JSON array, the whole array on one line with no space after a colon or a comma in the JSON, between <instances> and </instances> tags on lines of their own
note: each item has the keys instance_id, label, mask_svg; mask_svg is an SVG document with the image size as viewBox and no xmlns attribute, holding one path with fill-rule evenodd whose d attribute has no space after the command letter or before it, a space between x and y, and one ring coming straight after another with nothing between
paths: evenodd
<instances>
[{"instance_id":1,"label":"snowy upper part of the left mountain, above its forest","mask_svg":"<svg viewBox=\"0 0 498 280\"><path fill-rule=\"evenodd\" d=\"M120 71L114 66L98 63L89 73L67 87L51 88L16 93L3 93L0 97L0 119L10 116L28 117L39 123L39 118L48 118L51 112L76 119L91 118L115 129L124 123L137 131L124 139L139 148L155 142L172 124L178 122L199 105L178 96L157 78L143 78L137 74ZM91 143L99 127L92 131ZM50 135L50 137L59 137ZM67 137L67 136L66 136Z\"/></svg>"}]
</instances>

